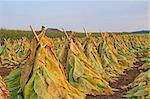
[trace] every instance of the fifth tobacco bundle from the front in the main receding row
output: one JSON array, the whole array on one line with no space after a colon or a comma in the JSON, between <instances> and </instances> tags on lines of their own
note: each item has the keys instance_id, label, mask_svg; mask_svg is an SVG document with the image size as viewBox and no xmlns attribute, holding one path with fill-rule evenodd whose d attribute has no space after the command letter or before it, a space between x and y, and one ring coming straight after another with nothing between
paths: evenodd
<instances>
[{"instance_id":1,"label":"fifth tobacco bundle from the front in the main receding row","mask_svg":"<svg viewBox=\"0 0 150 99\"><path fill-rule=\"evenodd\" d=\"M129 70L132 66L134 66L133 63L137 60L135 58L136 55L134 54L134 52L132 52L132 50L129 49L130 47L127 46L127 41L128 39L123 38L121 34L112 34L112 42L118 52L118 62L124 69Z\"/></svg>"}]
</instances>

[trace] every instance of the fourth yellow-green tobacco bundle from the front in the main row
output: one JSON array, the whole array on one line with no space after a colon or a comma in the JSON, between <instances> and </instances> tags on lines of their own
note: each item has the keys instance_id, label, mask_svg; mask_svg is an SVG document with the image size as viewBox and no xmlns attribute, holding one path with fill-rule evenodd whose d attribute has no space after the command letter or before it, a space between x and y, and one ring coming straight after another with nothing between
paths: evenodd
<instances>
[{"instance_id":1,"label":"fourth yellow-green tobacco bundle from the front in the main row","mask_svg":"<svg viewBox=\"0 0 150 99\"><path fill-rule=\"evenodd\" d=\"M98 46L98 53L102 59L102 66L111 82L116 81L117 77L123 75L124 68L118 63L118 52L114 48L108 33L102 35L102 42Z\"/></svg>"}]
</instances>

